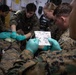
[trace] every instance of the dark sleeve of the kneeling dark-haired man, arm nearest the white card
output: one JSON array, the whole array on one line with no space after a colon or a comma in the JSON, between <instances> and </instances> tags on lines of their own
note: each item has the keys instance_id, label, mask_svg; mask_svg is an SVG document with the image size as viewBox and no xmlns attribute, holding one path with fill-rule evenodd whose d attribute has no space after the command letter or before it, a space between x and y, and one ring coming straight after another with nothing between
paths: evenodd
<instances>
[{"instance_id":1,"label":"dark sleeve of the kneeling dark-haired man, arm nearest the white card","mask_svg":"<svg viewBox=\"0 0 76 75\"><path fill-rule=\"evenodd\" d=\"M37 31L40 29L39 19L36 15L33 16L32 24L33 24L33 29L31 30L31 33L33 34L34 31Z\"/></svg>"}]
</instances>

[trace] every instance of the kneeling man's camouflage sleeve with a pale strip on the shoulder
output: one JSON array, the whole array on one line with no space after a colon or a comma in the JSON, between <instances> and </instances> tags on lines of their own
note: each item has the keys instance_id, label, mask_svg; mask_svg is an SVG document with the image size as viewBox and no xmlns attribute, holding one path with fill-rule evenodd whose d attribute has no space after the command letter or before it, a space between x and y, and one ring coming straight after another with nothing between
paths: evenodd
<instances>
[{"instance_id":1,"label":"kneeling man's camouflage sleeve with a pale strip on the shoulder","mask_svg":"<svg viewBox=\"0 0 76 75\"><path fill-rule=\"evenodd\" d=\"M10 19L10 25L18 25L18 20L20 19L20 13L21 11L18 10L16 13L14 13L12 16L11 16L11 19Z\"/></svg>"}]
</instances>

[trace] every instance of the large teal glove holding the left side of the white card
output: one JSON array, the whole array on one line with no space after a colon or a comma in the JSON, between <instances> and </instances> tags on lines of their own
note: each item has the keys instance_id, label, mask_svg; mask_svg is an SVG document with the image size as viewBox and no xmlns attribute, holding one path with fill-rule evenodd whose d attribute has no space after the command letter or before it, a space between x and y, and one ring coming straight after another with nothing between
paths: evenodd
<instances>
[{"instance_id":1,"label":"large teal glove holding the left side of the white card","mask_svg":"<svg viewBox=\"0 0 76 75\"><path fill-rule=\"evenodd\" d=\"M33 54L38 50L39 40L38 39L30 39L26 44L26 50L31 51Z\"/></svg>"}]
</instances>

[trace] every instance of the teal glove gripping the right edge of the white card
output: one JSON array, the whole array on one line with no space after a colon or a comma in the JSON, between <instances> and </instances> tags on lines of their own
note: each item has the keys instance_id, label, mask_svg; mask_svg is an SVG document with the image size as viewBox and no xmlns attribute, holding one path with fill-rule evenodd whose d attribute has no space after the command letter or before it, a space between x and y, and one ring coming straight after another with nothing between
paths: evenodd
<instances>
[{"instance_id":1,"label":"teal glove gripping the right edge of the white card","mask_svg":"<svg viewBox=\"0 0 76 75\"><path fill-rule=\"evenodd\" d=\"M59 43L55 39L48 38L48 41L51 43L51 47L50 47L51 51L62 50Z\"/></svg>"}]
</instances>

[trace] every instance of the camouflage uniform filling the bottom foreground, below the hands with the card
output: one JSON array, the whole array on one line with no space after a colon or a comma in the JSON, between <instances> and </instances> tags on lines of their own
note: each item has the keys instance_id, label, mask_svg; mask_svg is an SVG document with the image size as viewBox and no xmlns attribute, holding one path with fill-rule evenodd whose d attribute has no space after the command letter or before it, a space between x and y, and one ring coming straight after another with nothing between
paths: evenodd
<instances>
[{"instance_id":1,"label":"camouflage uniform filling the bottom foreground, below the hands with the card","mask_svg":"<svg viewBox=\"0 0 76 75\"><path fill-rule=\"evenodd\" d=\"M28 67L26 67L27 64ZM61 52L44 51L33 60L18 61L16 65L14 65L14 67L9 69L7 72L7 75L30 74L76 75L76 49L69 51L63 50Z\"/></svg>"}]
</instances>

